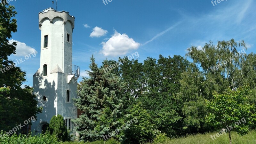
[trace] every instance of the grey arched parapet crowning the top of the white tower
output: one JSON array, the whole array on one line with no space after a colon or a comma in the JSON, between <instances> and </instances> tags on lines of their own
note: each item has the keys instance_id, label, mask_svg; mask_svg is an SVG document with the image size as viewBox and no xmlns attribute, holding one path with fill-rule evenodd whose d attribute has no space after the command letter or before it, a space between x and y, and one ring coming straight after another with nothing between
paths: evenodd
<instances>
[{"instance_id":1,"label":"grey arched parapet crowning the top of the white tower","mask_svg":"<svg viewBox=\"0 0 256 144\"><path fill-rule=\"evenodd\" d=\"M67 21L71 23L72 29L75 28L75 17L69 15L66 11L55 11L52 8L46 9L43 12L39 12L39 29L41 30L42 23L45 19L49 19L51 23L53 23L53 19L60 18L63 21L63 24L65 25Z\"/></svg>"}]
</instances>

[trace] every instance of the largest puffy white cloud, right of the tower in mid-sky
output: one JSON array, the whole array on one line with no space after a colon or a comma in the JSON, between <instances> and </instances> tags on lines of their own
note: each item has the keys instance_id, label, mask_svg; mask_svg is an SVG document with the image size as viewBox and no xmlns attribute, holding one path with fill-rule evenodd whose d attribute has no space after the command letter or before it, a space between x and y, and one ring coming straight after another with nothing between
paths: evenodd
<instances>
[{"instance_id":1,"label":"largest puffy white cloud, right of the tower in mid-sky","mask_svg":"<svg viewBox=\"0 0 256 144\"><path fill-rule=\"evenodd\" d=\"M136 50L140 46L140 43L135 42L125 33L121 35L116 30L115 34L107 42L102 42L101 44L103 48L100 53L103 53L105 56L124 55L129 50Z\"/></svg>"}]
</instances>

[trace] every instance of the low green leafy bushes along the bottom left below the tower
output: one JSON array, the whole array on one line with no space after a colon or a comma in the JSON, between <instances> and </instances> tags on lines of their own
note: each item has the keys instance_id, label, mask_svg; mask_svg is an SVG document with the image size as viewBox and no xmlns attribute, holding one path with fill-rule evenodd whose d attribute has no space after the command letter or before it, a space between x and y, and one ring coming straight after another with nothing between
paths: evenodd
<instances>
[{"instance_id":1,"label":"low green leafy bushes along the bottom left below the tower","mask_svg":"<svg viewBox=\"0 0 256 144\"><path fill-rule=\"evenodd\" d=\"M8 136L4 133L3 131L0 133L0 144L59 144L57 137L51 135L49 131L35 136L21 134Z\"/></svg>"}]
</instances>

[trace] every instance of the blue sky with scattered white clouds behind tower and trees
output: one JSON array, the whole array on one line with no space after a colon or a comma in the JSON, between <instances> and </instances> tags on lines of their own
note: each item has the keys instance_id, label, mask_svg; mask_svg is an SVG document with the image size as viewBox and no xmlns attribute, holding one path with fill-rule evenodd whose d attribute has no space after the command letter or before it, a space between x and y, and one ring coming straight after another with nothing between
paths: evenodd
<instances>
[{"instance_id":1,"label":"blue sky with scattered white clouds behind tower and trees","mask_svg":"<svg viewBox=\"0 0 256 144\"><path fill-rule=\"evenodd\" d=\"M87 76L92 54L99 65L106 58L117 60L134 52L143 62L147 57L157 59L159 54L185 56L188 47L202 48L209 41L232 38L246 42L246 53L255 52L256 1L219 2L213 6L211 0L112 0L105 5L102 0L58 0L57 10L76 18L73 64ZM18 65L27 72L23 85L32 86L40 65L38 13L52 7L52 0L13 0L9 4L18 12L18 31L12 39L20 42L17 54L10 58L24 60L26 53L37 52Z\"/></svg>"}]
</instances>

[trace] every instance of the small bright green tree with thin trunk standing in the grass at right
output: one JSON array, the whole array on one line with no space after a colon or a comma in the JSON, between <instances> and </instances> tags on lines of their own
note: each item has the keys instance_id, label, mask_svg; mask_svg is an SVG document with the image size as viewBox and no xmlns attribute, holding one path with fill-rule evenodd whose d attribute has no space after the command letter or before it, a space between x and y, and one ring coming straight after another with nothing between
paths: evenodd
<instances>
[{"instance_id":1,"label":"small bright green tree with thin trunk standing in the grass at right","mask_svg":"<svg viewBox=\"0 0 256 144\"><path fill-rule=\"evenodd\" d=\"M227 92L215 93L212 100L206 100L209 108L207 121L217 128L226 129L230 144L231 130L245 135L249 131L249 126L256 121L255 105L249 103L246 96L249 90L248 86L234 91L228 88Z\"/></svg>"}]
</instances>

